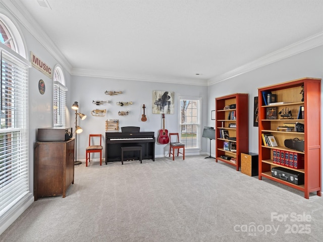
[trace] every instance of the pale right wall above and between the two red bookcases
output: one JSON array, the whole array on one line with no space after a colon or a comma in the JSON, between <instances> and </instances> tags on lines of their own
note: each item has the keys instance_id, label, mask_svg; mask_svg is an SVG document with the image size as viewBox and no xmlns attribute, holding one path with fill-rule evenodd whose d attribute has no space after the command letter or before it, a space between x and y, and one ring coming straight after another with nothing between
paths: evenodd
<instances>
[{"instance_id":1,"label":"pale right wall above and between the two red bookcases","mask_svg":"<svg viewBox=\"0 0 323 242\"><path fill-rule=\"evenodd\" d=\"M249 93L249 152L258 153L258 127L253 127L253 98L258 88L303 77L323 78L323 46L310 49L282 61L231 78L208 87L209 110L215 98L231 93ZM323 88L321 88L323 92ZM322 97L321 93L321 97ZM322 102L321 98L321 102ZM321 103L322 107L322 103ZM322 122L321 111L321 122ZM323 136L321 135L321 138ZM321 157L322 160L323 157ZM323 169L322 172L323 173Z\"/></svg>"}]
</instances>

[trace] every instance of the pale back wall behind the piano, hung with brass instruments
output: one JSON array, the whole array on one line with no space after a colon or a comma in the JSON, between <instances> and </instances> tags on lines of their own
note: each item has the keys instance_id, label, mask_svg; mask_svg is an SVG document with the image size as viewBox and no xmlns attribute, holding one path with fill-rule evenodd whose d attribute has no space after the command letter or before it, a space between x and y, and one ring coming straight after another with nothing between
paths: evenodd
<instances>
[{"instance_id":1,"label":"pale back wall behind the piano, hung with brass instruments","mask_svg":"<svg viewBox=\"0 0 323 242\"><path fill-rule=\"evenodd\" d=\"M163 129L163 119L161 114L152 114L152 91L173 91L174 92L174 114L165 114L165 129L171 132L179 132L179 97L197 97L201 99L201 114L202 125L201 129L206 126L207 113L207 87L183 84L170 84L158 82L146 82L136 80L118 80L106 78L93 77L72 77L72 92L70 106L77 101L79 103L78 112L87 115L86 119L80 120L78 118L78 126L82 127L83 133L77 136L77 159L85 160L85 148L88 145L89 134L102 134L105 139L105 120L119 119L119 127L124 126L138 126L140 131L155 132L155 137L158 137L158 130ZM104 94L105 91L122 91L122 94L110 96ZM107 101L111 103L104 103L103 105L95 105L92 101ZM117 102L133 102L132 105L119 106ZM143 113L142 106L145 104L145 114L147 121L141 121ZM103 117L92 116L93 109L106 109L106 115ZM118 111L129 110L129 115L119 116ZM75 129L75 114L71 114L70 126ZM121 130L120 130L121 131ZM105 141L105 140L102 141ZM105 146L105 142L103 143ZM201 150L186 150L185 153L200 154L206 153L207 140L202 138ZM160 145L155 143L155 157L168 155L169 145ZM93 154L94 158L98 158ZM103 151L105 157L105 151Z\"/></svg>"}]
</instances>

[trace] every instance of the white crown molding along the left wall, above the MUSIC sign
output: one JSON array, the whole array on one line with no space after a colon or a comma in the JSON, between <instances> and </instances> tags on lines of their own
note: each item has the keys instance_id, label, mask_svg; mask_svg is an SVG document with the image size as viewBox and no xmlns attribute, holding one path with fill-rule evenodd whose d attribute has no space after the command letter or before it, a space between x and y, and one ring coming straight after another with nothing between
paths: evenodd
<instances>
[{"instance_id":1,"label":"white crown molding along the left wall, above the MUSIC sign","mask_svg":"<svg viewBox=\"0 0 323 242\"><path fill-rule=\"evenodd\" d=\"M30 32L34 38L54 57L57 61L64 66L64 68L71 73L72 65L68 62L66 57L62 54L60 49L55 45L54 42L45 34L37 22L30 16L30 14L21 8L22 4L19 5L19 0L7 0L2 1L7 11L14 17L23 27ZM27 46L28 47L28 46Z\"/></svg>"}]
</instances>

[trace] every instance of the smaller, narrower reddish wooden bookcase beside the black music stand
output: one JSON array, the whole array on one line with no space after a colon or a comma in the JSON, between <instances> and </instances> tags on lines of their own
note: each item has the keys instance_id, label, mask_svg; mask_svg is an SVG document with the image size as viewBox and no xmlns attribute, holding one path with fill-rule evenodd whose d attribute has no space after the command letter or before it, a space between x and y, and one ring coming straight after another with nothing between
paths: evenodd
<instances>
[{"instance_id":1,"label":"smaller, narrower reddish wooden bookcase beside the black music stand","mask_svg":"<svg viewBox=\"0 0 323 242\"><path fill-rule=\"evenodd\" d=\"M248 149L248 94L217 97L216 162L226 162L239 170L240 153Z\"/></svg>"}]
</instances>

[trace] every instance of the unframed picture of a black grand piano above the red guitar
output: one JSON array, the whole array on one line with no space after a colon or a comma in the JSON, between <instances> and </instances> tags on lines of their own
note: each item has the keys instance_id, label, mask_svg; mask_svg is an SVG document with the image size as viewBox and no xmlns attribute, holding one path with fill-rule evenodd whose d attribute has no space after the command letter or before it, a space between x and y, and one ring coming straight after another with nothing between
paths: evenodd
<instances>
[{"instance_id":1,"label":"unframed picture of a black grand piano above the red guitar","mask_svg":"<svg viewBox=\"0 0 323 242\"><path fill-rule=\"evenodd\" d=\"M152 91L152 113L174 114L174 92Z\"/></svg>"}]
</instances>

